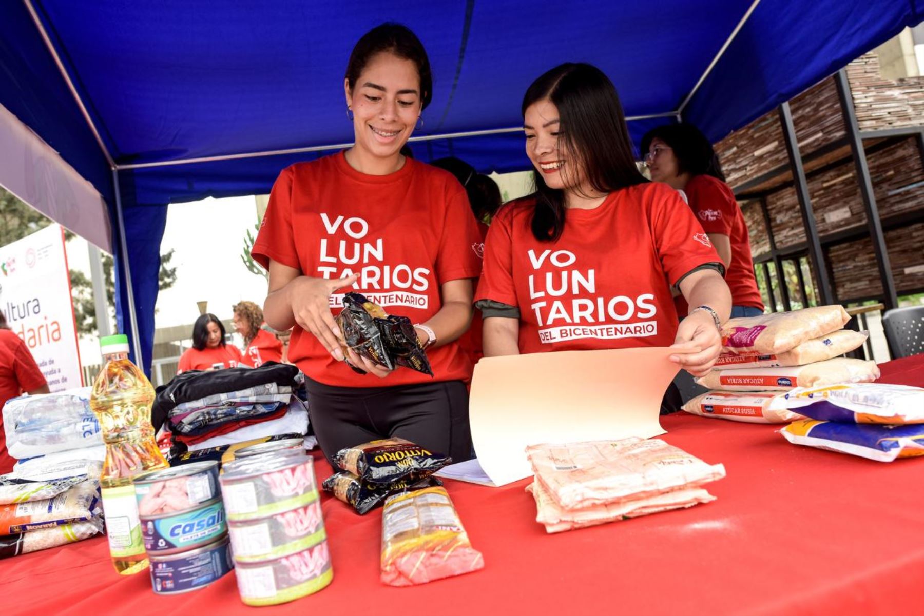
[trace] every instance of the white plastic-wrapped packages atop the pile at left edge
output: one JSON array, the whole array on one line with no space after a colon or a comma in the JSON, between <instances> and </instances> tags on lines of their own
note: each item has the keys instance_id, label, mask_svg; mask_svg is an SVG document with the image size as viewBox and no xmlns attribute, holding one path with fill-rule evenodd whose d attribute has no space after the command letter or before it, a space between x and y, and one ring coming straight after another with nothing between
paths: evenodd
<instances>
[{"instance_id":1,"label":"white plastic-wrapped packages atop the pile at left edge","mask_svg":"<svg viewBox=\"0 0 924 616\"><path fill-rule=\"evenodd\" d=\"M90 408L91 387L12 398L3 407L6 449L18 477L99 473L106 455ZM96 476L99 478L99 475Z\"/></svg>"}]
</instances>

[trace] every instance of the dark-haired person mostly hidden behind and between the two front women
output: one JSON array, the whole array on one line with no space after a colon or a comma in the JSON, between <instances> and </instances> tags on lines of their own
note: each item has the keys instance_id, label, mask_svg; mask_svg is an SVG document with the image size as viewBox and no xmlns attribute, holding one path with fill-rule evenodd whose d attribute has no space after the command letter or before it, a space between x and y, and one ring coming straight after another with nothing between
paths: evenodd
<instances>
[{"instance_id":1,"label":"dark-haired person mostly hidden behind and between the two front women","mask_svg":"<svg viewBox=\"0 0 924 616\"><path fill-rule=\"evenodd\" d=\"M468 204L475 215L475 220L478 221L478 228L481 232L480 243L473 244L471 248L481 259L484 256L484 238L488 236L488 224L491 223L492 217L502 205L500 187L490 176L478 173L475 167L455 156L437 159L432 162L432 165L455 175L462 187L465 188L468 194ZM477 286L478 281L476 280L474 284ZM462 344L471 354L473 363L484 356L481 351L480 311L475 311L472 316L471 326L468 328L468 332L459 338L459 344Z\"/></svg>"}]
</instances>

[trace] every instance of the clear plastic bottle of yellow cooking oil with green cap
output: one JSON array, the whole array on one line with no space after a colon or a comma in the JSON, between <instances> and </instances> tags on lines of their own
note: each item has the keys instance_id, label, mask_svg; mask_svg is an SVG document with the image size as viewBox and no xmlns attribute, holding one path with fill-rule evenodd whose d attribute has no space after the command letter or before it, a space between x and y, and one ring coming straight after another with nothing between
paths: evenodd
<instances>
[{"instance_id":1,"label":"clear plastic bottle of yellow cooking oil with green cap","mask_svg":"<svg viewBox=\"0 0 924 616\"><path fill-rule=\"evenodd\" d=\"M151 425L154 388L128 359L128 336L100 339L103 370L93 382L90 407L100 421L106 461L100 486L109 553L119 574L148 567L141 540L138 502L132 477L169 466L157 448Z\"/></svg>"}]
</instances>

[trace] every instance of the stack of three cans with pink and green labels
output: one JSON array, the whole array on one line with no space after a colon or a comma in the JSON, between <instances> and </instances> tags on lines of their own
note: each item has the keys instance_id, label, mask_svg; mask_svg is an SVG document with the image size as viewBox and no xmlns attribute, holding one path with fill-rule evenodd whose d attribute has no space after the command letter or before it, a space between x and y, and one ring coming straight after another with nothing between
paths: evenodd
<instances>
[{"instance_id":1,"label":"stack of three cans with pink and green labels","mask_svg":"<svg viewBox=\"0 0 924 616\"><path fill-rule=\"evenodd\" d=\"M285 446L240 453L219 480L241 600L275 605L318 592L334 570L313 459Z\"/></svg>"}]
</instances>

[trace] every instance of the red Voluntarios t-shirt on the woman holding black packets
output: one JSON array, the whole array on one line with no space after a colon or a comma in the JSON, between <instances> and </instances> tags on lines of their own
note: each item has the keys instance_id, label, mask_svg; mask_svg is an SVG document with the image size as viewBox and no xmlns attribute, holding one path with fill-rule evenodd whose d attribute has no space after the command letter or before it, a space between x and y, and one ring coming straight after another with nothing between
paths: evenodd
<instances>
[{"instance_id":1,"label":"red Voluntarios t-shirt on the woman holding black packets","mask_svg":"<svg viewBox=\"0 0 924 616\"><path fill-rule=\"evenodd\" d=\"M264 268L274 260L319 278L359 273L359 282L349 290L420 323L442 307L441 284L478 277L480 241L468 196L453 175L410 158L394 174L366 175L340 152L294 164L279 175L250 254ZM346 291L331 296L334 315ZM430 349L427 356L433 379L471 378L470 356L457 341ZM298 325L288 359L327 385L382 387L432 380L408 368L386 380L357 374Z\"/></svg>"}]
</instances>

